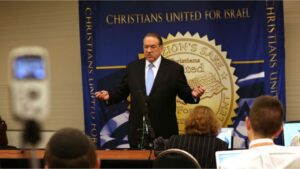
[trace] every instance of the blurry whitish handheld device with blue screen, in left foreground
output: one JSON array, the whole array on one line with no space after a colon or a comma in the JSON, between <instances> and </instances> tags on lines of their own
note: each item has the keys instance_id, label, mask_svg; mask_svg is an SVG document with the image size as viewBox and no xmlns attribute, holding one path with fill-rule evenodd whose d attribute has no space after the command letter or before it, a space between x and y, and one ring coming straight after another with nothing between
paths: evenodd
<instances>
[{"instance_id":1,"label":"blurry whitish handheld device with blue screen, in left foreground","mask_svg":"<svg viewBox=\"0 0 300 169\"><path fill-rule=\"evenodd\" d=\"M46 49L19 47L9 55L11 111L19 120L44 120L49 111L49 61Z\"/></svg>"}]
</instances>

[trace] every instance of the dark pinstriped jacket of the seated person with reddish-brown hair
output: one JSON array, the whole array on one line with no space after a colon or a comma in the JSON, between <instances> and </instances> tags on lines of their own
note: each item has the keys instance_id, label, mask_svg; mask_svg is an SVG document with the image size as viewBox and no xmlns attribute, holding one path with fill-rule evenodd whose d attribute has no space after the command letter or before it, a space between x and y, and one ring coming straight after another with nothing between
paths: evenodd
<instances>
[{"instance_id":1,"label":"dark pinstriped jacket of the seated person with reddish-brown hair","mask_svg":"<svg viewBox=\"0 0 300 169\"><path fill-rule=\"evenodd\" d=\"M179 148L192 154L201 168L216 168L215 152L227 150L228 144L215 136L174 135L167 148Z\"/></svg>"}]
</instances>

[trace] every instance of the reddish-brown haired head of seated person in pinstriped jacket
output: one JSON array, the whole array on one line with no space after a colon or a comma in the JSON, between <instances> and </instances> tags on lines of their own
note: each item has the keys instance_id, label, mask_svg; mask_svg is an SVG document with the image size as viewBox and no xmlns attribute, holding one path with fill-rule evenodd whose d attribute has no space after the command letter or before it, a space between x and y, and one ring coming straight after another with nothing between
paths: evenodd
<instances>
[{"instance_id":1,"label":"reddish-brown haired head of seated person in pinstriped jacket","mask_svg":"<svg viewBox=\"0 0 300 169\"><path fill-rule=\"evenodd\" d=\"M185 133L188 135L216 136L221 128L213 110L206 106L196 106L185 120Z\"/></svg>"}]
</instances>

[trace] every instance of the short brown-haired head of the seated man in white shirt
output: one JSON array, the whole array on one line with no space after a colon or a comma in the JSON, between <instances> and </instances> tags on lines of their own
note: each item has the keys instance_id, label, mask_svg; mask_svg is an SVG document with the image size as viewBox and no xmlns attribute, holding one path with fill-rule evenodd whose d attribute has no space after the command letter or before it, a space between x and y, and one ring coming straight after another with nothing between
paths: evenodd
<instances>
[{"instance_id":1,"label":"short brown-haired head of the seated man in white shirt","mask_svg":"<svg viewBox=\"0 0 300 169\"><path fill-rule=\"evenodd\" d=\"M246 118L248 137L275 138L282 131L283 106L274 96L257 97Z\"/></svg>"}]
</instances>

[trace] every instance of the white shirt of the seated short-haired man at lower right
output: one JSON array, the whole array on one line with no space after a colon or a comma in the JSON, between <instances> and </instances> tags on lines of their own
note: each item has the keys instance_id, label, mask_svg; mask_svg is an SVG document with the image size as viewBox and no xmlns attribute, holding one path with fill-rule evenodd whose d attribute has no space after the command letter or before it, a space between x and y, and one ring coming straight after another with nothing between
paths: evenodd
<instances>
[{"instance_id":1,"label":"white shirt of the seated short-haired man at lower right","mask_svg":"<svg viewBox=\"0 0 300 169\"><path fill-rule=\"evenodd\" d=\"M271 139L256 139L238 157L226 159L221 169L300 168L300 148L275 145Z\"/></svg>"}]
</instances>

